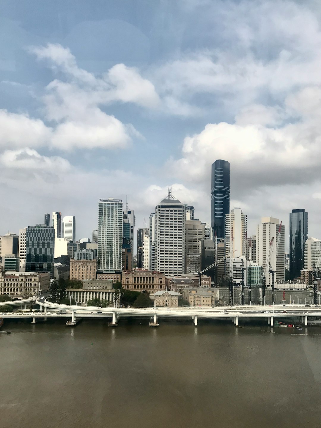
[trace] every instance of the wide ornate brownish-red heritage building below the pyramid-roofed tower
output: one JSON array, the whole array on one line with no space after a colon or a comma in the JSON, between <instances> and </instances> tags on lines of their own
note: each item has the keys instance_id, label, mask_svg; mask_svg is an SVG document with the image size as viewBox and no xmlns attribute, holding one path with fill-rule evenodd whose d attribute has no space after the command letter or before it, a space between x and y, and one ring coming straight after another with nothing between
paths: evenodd
<instances>
[{"instance_id":1,"label":"wide ornate brownish-red heritage building below the pyramid-roofed tower","mask_svg":"<svg viewBox=\"0 0 321 428\"><path fill-rule=\"evenodd\" d=\"M131 291L165 290L165 275L160 272L134 269L122 273L122 288Z\"/></svg>"}]
</instances>

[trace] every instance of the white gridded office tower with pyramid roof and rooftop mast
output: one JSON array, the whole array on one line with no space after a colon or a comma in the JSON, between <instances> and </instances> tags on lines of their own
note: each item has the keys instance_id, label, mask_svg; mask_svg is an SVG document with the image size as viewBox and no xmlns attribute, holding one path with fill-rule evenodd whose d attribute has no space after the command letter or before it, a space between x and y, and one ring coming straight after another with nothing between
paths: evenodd
<instances>
[{"instance_id":1,"label":"white gridded office tower with pyramid roof and rooftop mast","mask_svg":"<svg viewBox=\"0 0 321 428\"><path fill-rule=\"evenodd\" d=\"M165 275L184 274L185 205L168 196L155 207L155 267Z\"/></svg>"}]
</instances>

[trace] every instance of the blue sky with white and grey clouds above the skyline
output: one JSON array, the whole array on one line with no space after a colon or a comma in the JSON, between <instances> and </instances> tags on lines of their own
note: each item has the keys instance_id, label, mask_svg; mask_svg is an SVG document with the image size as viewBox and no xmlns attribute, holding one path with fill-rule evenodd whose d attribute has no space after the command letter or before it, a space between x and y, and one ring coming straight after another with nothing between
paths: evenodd
<instances>
[{"instance_id":1,"label":"blue sky with white and grey clouds above the skyline","mask_svg":"<svg viewBox=\"0 0 321 428\"><path fill-rule=\"evenodd\" d=\"M321 238L318 0L2 0L0 234L128 195L143 227L168 186L210 220L211 163L231 208L305 208ZM286 242L287 242L286 238Z\"/></svg>"}]
</instances>

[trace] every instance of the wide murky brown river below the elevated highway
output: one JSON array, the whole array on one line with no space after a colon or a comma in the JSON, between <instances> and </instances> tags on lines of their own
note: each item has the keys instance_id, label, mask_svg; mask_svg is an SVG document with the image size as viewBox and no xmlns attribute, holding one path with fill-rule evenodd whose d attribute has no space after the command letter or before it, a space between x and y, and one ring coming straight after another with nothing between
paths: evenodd
<instances>
[{"instance_id":1,"label":"wide murky brown river below the elevated highway","mask_svg":"<svg viewBox=\"0 0 321 428\"><path fill-rule=\"evenodd\" d=\"M7 321L1 428L320 426L321 329Z\"/></svg>"}]
</instances>

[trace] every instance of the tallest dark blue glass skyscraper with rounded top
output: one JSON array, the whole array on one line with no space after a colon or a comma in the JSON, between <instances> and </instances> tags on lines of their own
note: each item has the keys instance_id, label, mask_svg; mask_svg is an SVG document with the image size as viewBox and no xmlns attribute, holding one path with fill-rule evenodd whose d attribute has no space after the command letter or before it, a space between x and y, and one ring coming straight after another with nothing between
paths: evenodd
<instances>
[{"instance_id":1,"label":"tallest dark blue glass skyscraper with rounded top","mask_svg":"<svg viewBox=\"0 0 321 428\"><path fill-rule=\"evenodd\" d=\"M229 214L229 174L230 163L226 160L212 163L211 227L217 238L224 238L225 216Z\"/></svg>"}]
</instances>

